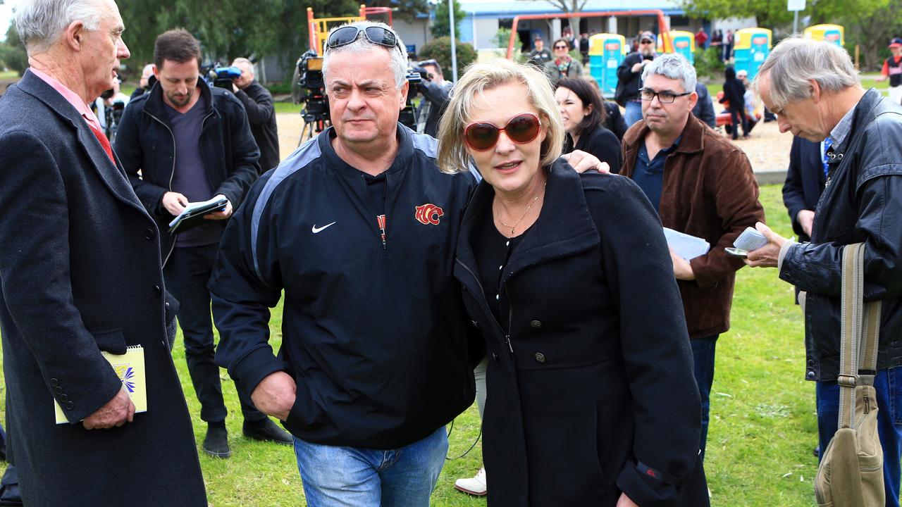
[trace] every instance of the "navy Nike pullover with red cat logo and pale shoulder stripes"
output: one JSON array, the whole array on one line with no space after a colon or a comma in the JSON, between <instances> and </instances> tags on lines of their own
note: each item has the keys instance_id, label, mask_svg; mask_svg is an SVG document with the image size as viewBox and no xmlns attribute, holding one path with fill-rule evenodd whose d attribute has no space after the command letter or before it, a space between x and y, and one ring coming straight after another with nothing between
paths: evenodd
<instances>
[{"instance_id":1,"label":"navy Nike pullover with red cat logo and pale shoulder stripes","mask_svg":"<svg viewBox=\"0 0 902 507\"><path fill-rule=\"evenodd\" d=\"M436 140L399 124L380 221L364 173L332 149L334 134L263 175L227 226L209 283L216 362L249 391L270 373L292 375L297 399L284 424L298 438L403 447L474 399L481 351L471 336L481 338L453 268L475 180L438 171ZM269 309L283 290L274 355Z\"/></svg>"}]
</instances>

